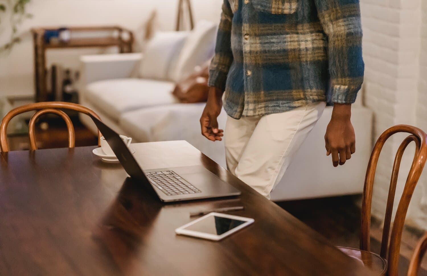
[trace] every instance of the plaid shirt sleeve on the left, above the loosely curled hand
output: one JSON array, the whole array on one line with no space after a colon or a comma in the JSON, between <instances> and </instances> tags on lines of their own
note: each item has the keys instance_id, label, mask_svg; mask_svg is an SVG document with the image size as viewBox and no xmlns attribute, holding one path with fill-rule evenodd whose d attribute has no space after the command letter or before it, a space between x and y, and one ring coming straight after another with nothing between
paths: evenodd
<instances>
[{"instance_id":1,"label":"plaid shirt sleeve on the left, above the loosely curled hand","mask_svg":"<svg viewBox=\"0 0 427 276\"><path fill-rule=\"evenodd\" d=\"M228 0L222 4L221 22L219 23L218 34L216 36L215 55L209 66L209 86L225 90L228 70L233 62L233 52L231 51L231 26L233 12Z\"/></svg>"}]
</instances>

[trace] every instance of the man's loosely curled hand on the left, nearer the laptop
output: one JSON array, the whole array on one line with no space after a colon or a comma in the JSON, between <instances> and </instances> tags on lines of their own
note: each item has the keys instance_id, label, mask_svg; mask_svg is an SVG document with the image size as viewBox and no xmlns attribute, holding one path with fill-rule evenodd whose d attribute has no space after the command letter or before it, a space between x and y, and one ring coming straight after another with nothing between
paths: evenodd
<instances>
[{"instance_id":1,"label":"man's loosely curled hand on the left, nearer the laptop","mask_svg":"<svg viewBox=\"0 0 427 276\"><path fill-rule=\"evenodd\" d=\"M209 89L205 110L203 110L202 117L200 118L202 135L211 141L221 141L221 137L224 136L224 130L218 128L218 121L216 120L221 113L221 109L222 91L219 91L218 88L211 87Z\"/></svg>"}]
</instances>

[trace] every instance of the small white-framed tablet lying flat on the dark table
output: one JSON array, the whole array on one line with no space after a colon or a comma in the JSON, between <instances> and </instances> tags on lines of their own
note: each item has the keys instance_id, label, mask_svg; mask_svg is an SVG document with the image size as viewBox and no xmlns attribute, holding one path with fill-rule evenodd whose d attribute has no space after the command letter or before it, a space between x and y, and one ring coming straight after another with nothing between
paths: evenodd
<instances>
[{"instance_id":1,"label":"small white-framed tablet lying flat on the dark table","mask_svg":"<svg viewBox=\"0 0 427 276\"><path fill-rule=\"evenodd\" d=\"M178 235L220 241L253 222L254 219L252 218L238 217L230 214L210 213L175 229L175 233Z\"/></svg>"}]
</instances>

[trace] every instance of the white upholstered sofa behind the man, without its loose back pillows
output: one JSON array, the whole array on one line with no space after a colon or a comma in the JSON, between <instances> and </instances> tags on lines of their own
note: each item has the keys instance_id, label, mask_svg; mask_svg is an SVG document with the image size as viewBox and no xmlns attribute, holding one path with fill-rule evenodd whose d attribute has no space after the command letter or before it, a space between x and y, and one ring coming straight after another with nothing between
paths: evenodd
<instances>
[{"instance_id":1,"label":"white upholstered sofa behind the man, without its loose back pillows","mask_svg":"<svg viewBox=\"0 0 427 276\"><path fill-rule=\"evenodd\" d=\"M135 142L186 140L225 167L223 142L211 142L200 134L199 117L204 103L181 104L171 95L174 84L167 81L132 78L142 59L138 53L83 56L82 105L93 109L117 132ZM293 200L357 194L371 153L372 112L355 106L352 122L356 131L357 153L345 166L334 168L325 155L324 135L331 107L304 142L281 183L272 192L272 200ZM225 112L219 116L224 127ZM82 122L92 131L94 124Z\"/></svg>"}]
</instances>

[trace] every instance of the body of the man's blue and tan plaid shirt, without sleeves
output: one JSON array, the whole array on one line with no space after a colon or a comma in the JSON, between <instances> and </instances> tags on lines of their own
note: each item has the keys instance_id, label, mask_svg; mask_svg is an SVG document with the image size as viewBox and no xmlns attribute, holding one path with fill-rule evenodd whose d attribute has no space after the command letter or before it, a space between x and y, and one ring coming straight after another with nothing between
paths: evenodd
<instances>
[{"instance_id":1,"label":"body of the man's blue and tan plaid shirt, without sleeves","mask_svg":"<svg viewBox=\"0 0 427 276\"><path fill-rule=\"evenodd\" d=\"M234 61L224 96L227 113L265 115L325 101L328 42L313 0L229 3Z\"/></svg>"}]
</instances>

